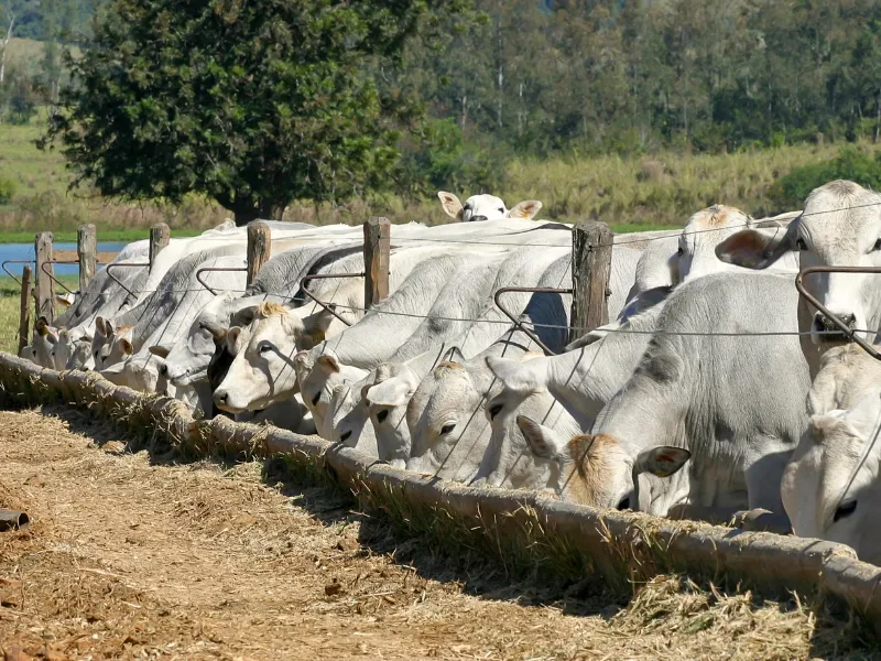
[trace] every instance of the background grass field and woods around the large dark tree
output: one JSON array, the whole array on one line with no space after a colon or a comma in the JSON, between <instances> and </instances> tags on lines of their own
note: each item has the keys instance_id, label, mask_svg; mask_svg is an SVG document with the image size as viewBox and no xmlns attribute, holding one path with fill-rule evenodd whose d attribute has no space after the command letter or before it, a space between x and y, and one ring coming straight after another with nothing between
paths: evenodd
<instances>
[{"instance_id":1,"label":"background grass field and woods around the large dark tree","mask_svg":"<svg viewBox=\"0 0 881 661\"><path fill-rule=\"evenodd\" d=\"M352 195L289 205L285 218L357 223L369 214L443 221L433 193L501 194L543 217L681 224L715 202L754 215L796 208L847 176L878 185L881 6L869 0L476 0L443 18L398 66L368 67L426 121L401 131L398 169ZM88 46L97 1L0 0L18 26L0 84L0 226L206 227L229 213L109 204L66 193L72 174L39 152L62 52ZM54 35L54 39L53 39ZM0 44L2 45L2 44ZM54 76L54 78L53 78ZM42 108L42 110L41 110Z\"/></svg>"}]
</instances>

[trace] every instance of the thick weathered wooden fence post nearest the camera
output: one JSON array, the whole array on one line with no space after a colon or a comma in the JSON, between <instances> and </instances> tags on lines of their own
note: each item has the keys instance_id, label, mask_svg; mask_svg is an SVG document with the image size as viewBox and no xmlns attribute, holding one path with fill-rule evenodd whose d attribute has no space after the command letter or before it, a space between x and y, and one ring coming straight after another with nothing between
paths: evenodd
<instances>
[{"instance_id":1,"label":"thick weathered wooden fence post nearest the camera","mask_svg":"<svg viewBox=\"0 0 881 661\"><path fill-rule=\"evenodd\" d=\"M572 228L569 342L609 323L609 277L614 235L605 223L580 220Z\"/></svg>"}]
</instances>

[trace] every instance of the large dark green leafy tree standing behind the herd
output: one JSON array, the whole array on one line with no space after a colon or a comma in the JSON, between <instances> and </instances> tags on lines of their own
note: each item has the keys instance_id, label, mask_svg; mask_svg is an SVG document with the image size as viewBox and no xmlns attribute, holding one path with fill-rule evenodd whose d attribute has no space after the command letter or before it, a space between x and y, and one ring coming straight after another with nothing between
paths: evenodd
<instances>
[{"instance_id":1,"label":"large dark green leafy tree standing behind the herd","mask_svg":"<svg viewBox=\"0 0 881 661\"><path fill-rule=\"evenodd\" d=\"M112 0L98 14L55 138L74 185L181 202L200 193L237 224L294 199L384 185L412 98L377 84L407 40L465 0Z\"/></svg>"}]
</instances>

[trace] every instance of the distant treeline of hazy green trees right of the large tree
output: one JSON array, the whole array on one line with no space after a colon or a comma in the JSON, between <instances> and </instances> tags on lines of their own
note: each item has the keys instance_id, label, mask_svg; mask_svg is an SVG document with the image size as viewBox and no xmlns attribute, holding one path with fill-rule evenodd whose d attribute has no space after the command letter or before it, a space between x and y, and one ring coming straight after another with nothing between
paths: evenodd
<instances>
[{"instance_id":1,"label":"distant treeline of hazy green trees right of the large tree","mask_svg":"<svg viewBox=\"0 0 881 661\"><path fill-rule=\"evenodd\" d=\"M401 84L518 153L720 152L881 132L877 0L477 0ZM404 83L406 80L406 83Z\"/></svg>"}]
</instances>

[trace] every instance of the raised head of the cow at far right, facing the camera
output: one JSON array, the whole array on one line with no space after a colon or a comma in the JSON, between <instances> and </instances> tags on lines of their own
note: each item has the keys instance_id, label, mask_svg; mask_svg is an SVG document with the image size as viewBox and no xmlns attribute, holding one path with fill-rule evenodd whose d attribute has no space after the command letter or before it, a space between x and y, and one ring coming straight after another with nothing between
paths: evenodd
<instances>
[{"instance_id":1,"label":"raised head of the cow at far right, facing the camera","mask_svg":"<svg viewBox=\"0 0 881 661\"><path fill-rule=\"evenodd\" d=\"M748 229L716 249L722 261L752 269L764 269L792 251L798 251L803 268L881 267L881 195L853 182L830 182L811 193L804 212L786 231ZM850 328L862 330L867 339L874 338L881 327L881 277L814 273L804 284ZM846 336L819 312L800 312L800 329L811 333L811 343L820 353L846 342ZM809 350L805 356L812 367L816 365Z\"/></svg>"}]
</instances>

